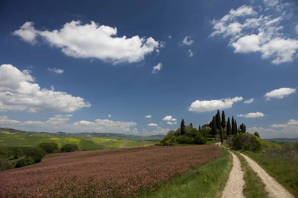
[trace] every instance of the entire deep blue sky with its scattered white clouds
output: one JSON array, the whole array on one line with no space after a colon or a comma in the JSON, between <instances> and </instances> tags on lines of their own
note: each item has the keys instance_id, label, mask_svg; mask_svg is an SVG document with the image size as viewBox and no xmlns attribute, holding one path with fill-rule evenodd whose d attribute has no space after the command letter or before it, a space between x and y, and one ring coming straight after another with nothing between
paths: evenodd
<instances>
[{"instance_id":1,"label":"entire deep blue sky with its scattered white clouds","mask_svg":"<svg viewBox=\"0 0 298 198\"><path fill-rule=\"evenodd\" d=\"M220 109L262 138L298 137L297 13L292 0L1 2L0 126L155 135Z\"/></svg>"}]
</instances>

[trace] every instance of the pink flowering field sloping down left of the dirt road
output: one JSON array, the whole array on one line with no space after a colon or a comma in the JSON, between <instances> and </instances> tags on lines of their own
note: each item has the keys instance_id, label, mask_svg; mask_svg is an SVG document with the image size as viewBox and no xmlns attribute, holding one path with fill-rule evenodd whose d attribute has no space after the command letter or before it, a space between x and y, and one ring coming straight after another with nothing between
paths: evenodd
<instances>
[{"instance_id":1,"label":"pink flowering field sloping down left of the dirt road","mask_svg":"<svg viewBox=\"0 0 298 198\"><path fill-rule=\"evenodd\" d=\"M0 197L136 197L220 155L212 146L57 153L0 172Z\"/></svg>"}]
</instances>

